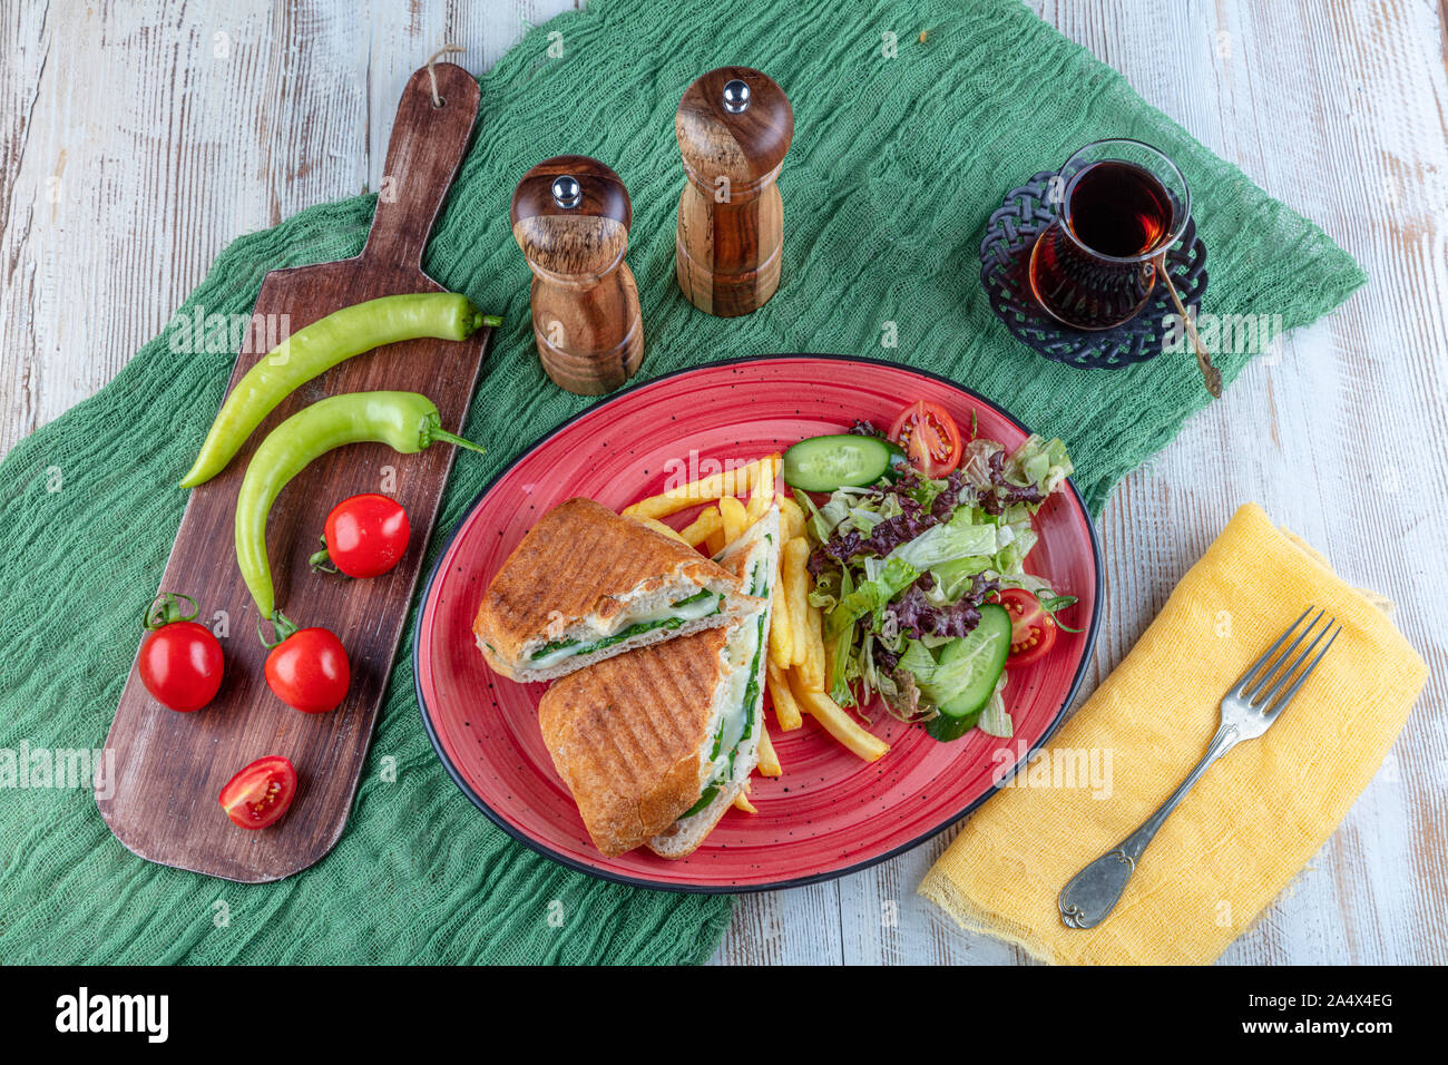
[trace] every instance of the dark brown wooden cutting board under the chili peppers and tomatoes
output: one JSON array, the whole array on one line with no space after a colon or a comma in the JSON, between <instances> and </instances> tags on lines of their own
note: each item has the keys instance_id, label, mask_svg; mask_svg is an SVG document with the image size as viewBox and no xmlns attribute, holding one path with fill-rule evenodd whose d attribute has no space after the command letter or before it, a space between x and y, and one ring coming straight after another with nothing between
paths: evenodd
<instances>
[{"instance_id":1,"label":"dark brown wooden cutting board under the chili peppers and tomatoes","mask_svg":"<svg viewBox=\"0 0 1448 1065\"><path fill-rule=\"evenodd\" d=\"M362 300L442 291L421 270L423 248L468 148L479 91L460 67L440 62L433 71L443 103L433 104L427 68L407 83L362 254L274 270L262 281L255 309L262 317L253 322L279 327L282 319L269 316L285 314L287 327L295 332ZM200 604L197 620L222 638L224 680L210 706L182 714L152 698L132 665L106 739L111 772L96 788L101 816L126 848L164 865L261 882L306 869L337 842L456 449L433 445L398 455L381 443L340 448L300 474L272 507L266 542L278 607L298 625L337 633L352 664L346 701L324 714L292 710L266 687L259 616L236 567L236 491L265 435L326 396L418 391L437 404L443 427L460 433L489 332L463 342L390 345L329 369L278 406L222 474L191 491L159 591L185 593ZM265 349L243 346L229 387L264 355ZM191 416L209 422L214 413ZM460 461L469 458L476 459ZM182 474L180 467L158 469L156 491L181 491L174 485ZM319 546L327 513L348 496L366 491L392 496L407 507L413 535L401 564L368 581L313 574L307 558ZM138 651L143 606L136 604ZM275 826L249 832L227 820L217 795L237 769L264 755L285 755L297 767L297 798Z\"/></svg>"}]
</instances>

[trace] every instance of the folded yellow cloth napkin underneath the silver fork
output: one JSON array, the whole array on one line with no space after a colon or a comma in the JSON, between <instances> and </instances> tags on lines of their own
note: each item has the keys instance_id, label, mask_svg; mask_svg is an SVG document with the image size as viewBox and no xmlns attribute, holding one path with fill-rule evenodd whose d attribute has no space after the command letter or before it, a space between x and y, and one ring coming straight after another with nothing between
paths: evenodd
<instances>
[{"instance_id":1,"label":"folded yellow cloth napkin underneath the silver fork","mask_svg":"<svg viewBox=\"0 0 1448 1065\"><path fill-rule=\"evenodd\" d=\"M1222 694L1308 604L1344 626L1312 678L1261 739L1208 769L1108 920L1061 924L1066 881L1171 794L1206 751ZM1021 771L1025 787L995 795L919 893L1041 961L1215 961L1332 835L1426 681L1386 607L1244 506L1047 758Z\"/></svg>"}]
</instances>

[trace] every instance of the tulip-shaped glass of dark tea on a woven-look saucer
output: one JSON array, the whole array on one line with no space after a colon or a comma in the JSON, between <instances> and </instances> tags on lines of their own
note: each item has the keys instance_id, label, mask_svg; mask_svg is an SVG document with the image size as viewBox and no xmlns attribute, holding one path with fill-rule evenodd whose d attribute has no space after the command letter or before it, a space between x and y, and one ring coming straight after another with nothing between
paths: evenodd
<instances>
[{"instance_id":1,"label":"tulip-shaped glass of dark tea on a woven-look saucer","mask_svg":"<svg viewBox=\"0 0 1448 1065\"><path fill-rule=\"evenodd\" d=\"M1192 213L1182 171L1141 141L1095 141L1066 161L1047 197L1056 220L1031 249L1037 301L1076 329L1134 317Z\"/></svg>"}]
</instances>

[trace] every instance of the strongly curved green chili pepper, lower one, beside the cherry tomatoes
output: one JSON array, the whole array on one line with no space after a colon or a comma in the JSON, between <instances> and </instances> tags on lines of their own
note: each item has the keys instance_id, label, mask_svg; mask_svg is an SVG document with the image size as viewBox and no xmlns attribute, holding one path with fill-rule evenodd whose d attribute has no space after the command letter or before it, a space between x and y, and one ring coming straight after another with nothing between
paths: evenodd
<instances>
[{"instance_id":1,"label":"strongly curved green chili pepper, lower one, beside the cherry tomatoes","mask_svg":"<svg viewBox=\"0 0 1448 1065\"><path fill-rule=\"evenodd\" d=\"M298 410L262 440L236 497L236 564L261 616L275 607L266 559L266 516L287 483L314 458L345 443L387 443L414 455L437 440L481 452L442 429L437 407L417 393L345 393Z\"/></svg>"}]
</instances>

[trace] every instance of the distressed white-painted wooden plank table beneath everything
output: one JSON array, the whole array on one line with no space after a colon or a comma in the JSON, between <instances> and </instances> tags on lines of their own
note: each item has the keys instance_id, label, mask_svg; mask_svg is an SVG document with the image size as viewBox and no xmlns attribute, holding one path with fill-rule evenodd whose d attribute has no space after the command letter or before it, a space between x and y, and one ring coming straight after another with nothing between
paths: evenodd
<instances>
[{"instance_id":1,"label":"distressed white-painted wooden plank table beneath everything","mask_svg":"<svg viewBox=\"0 0 1448 1065\"><path fill-rule=\"evenodd\" d=\"M1432 0L1031 4L1373 278L1116 490L1086 687L1244 500L1393 597L1428 690L1338 833L1224 961L1442 964L1444 13ZM232 238L376 188L403 83L440 42L481 71L569 6L0 1L0 454L109 381ZM1022 961L915 897L951 835L841 881L746 897L717 961Z\"/></svg>"}]
</instances>

